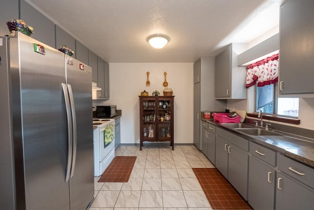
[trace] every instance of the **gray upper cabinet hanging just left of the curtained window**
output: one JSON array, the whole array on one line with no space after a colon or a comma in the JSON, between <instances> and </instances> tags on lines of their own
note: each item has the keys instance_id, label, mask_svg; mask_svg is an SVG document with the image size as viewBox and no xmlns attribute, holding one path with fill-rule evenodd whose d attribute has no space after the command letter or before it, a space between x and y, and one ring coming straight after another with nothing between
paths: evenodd
<instances>
[{"instance_id":1,"label":"gray upper cabinet hanging just left of the curtained window","mask_svg":"<svg viewBox=\"0 0 314 210\"><path fill-rule=\"evenodd\" d=\"M246 50L246 44L233 43L215 57L216 99L246 99L246 69L237 65L237 55Z\"/></svg>"}]
</instances>

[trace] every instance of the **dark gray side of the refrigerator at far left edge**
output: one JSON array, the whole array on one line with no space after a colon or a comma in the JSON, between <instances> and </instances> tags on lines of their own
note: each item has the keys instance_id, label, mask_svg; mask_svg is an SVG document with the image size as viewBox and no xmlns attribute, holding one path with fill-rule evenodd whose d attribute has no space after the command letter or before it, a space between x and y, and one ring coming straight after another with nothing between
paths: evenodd
<instances>
[{"instance_id":1,"label":"dark gray side of the refrigerator at far left edge","mask_svg":"<svg viewBox=\"0 0 314 210\"><path fill-rule=\"evenodd\" d=\"M7 37L0 37L0 207L16 210L12 94L7 42Z\"/></svg>"}]
</instances>

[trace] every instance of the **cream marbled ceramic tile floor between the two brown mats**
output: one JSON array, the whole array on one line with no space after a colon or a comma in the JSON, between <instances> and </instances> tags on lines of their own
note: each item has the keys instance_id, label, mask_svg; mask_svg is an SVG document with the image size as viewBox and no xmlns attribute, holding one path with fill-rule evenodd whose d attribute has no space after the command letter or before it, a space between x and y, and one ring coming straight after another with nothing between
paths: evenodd
<instances>
[{"instance_id":1,"label":"cream marbled ceramic tile floor between the two brown mats","mask_svg":"<svg viewBox=\"0 0 314 210\"><path fill-rule=\"evenodd\" d=\"M211 210L193 168L214 168L195 146L120 146L137 156L128 182L98 182L90 210Z\"/></svg>"}]
</instances>

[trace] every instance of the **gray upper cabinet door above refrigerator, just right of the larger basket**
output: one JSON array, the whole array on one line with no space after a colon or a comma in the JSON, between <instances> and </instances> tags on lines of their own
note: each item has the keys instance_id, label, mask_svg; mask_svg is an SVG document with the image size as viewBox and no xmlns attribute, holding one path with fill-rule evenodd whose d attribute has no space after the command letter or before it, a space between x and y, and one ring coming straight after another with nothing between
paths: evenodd
<instances>
[{"instance_id":1,"label":"gray upper cabinet door above refrigerator, just right of the larger basket","mask_svg":"<svg viewBox=\"0 0 314 210\"><path fill-rule=\"evenodd\" d=\"M27 25L34 28L34 33L31 34L31 37L51 47L55 47L53 22L29 5L25 0L21 0L20 2L21 19L24 20ZM75 50L75 45L71 47L72 50Z\"/></svg>"}]
</instances>

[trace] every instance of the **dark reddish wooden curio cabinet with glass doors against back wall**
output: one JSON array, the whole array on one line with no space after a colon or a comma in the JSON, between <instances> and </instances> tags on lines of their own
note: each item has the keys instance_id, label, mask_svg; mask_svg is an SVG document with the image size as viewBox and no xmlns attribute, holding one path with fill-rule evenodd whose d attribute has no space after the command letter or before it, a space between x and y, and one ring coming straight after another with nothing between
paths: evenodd
<instances>
[{"instance_id":1,"label":"dark reddish wooden curio cabinet with glass doors against back wall","mask_svg":"<svg viewBox=\"0 0 314 210\"><path fill-rule=\"evenodd\" d=\"M143 142L170 141L174 149L174 97L138 96L140 99L140 150Z\"/></svg>"}]
</instances>

